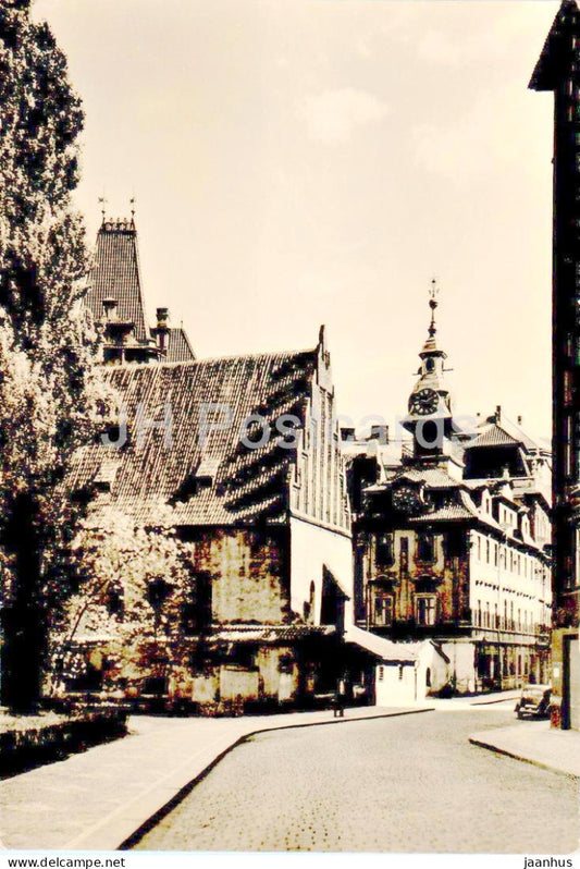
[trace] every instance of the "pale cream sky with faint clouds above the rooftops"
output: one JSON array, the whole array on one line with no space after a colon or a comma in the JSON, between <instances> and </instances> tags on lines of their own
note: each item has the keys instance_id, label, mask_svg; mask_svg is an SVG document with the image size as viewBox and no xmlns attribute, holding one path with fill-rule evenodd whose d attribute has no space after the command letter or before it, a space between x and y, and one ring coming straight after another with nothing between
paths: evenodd
<instances>
[{"instance_id":1,"label":"pale cream sky with faint clouds above the rooftops","mask_svg":"<svg viewBox=\"0 0 580 869\"><path fill-rule=\"evenodd\" d=\"M554 0L37 0L86 112L94 244L136 198L151 320L199 357L312 347L394 426L440 286L455 408L551 430Z\"/></svg>"}]
</instances>

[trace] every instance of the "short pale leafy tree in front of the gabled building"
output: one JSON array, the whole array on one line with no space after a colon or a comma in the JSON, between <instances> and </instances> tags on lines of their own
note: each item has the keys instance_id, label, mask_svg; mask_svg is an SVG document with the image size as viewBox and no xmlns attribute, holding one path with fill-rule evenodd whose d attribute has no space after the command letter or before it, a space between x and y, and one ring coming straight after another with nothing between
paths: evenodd
<instances>
[{"instance_id":1,"label":"short pale leafy tree in front of the gabled building","mask_svg":"<svg viewBox=\"0 0 580 869\"><path fill-rule=\"evenodd\" d=\"M159 505L153 527L98 510L81 523L73 553L79 582L51 625L50 694L82 686L91 658L109 691L123 684L137 694L151 676L178 680L196 589L193 550L177 539L171 507Z\"/></svg>"}]
</instances>

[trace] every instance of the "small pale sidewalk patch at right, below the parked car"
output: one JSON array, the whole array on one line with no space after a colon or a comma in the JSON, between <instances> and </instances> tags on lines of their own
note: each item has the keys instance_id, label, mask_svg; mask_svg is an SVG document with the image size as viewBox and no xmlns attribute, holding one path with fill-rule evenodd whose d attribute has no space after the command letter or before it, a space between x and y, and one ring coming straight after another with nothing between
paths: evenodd
<instances>
[{"instance_id":1,"label":"small pale sidewalk patch at right, below the parked car","mask_svg":"<svg viewBox=\"0 0 580 869\"><path fill-rule=\"evenodd\" d=\"M469 742L536 767L580 776L580 733L550 727L550 721L523 721L473 733Z\"/></svg>"}]
</instances>

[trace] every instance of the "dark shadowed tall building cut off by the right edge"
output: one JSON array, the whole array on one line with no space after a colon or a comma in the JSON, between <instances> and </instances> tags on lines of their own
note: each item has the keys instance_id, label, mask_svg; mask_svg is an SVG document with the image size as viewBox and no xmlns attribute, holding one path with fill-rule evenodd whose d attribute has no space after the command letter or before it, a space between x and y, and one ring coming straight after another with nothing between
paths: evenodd
<instances>
[{"instance_id":1,"label":"dark shadowed tall building cut off by the right edge","mask_svg":"<svg viewBox=\"0 0 580 869\"><path fill-rule=\"evenodd\" d=\"M564 0L530 87L554 93L553 499L555 724L580 726L580 9ZM560 699L560 706L556 705Z\"/></svg>"}]
</instances>

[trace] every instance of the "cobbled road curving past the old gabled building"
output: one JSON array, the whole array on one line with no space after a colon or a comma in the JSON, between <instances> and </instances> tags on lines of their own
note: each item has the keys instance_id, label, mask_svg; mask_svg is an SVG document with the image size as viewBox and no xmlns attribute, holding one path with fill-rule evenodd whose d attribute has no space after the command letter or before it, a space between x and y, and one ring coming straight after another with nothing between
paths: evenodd
<instances>
[{"instance_id":1,"label":"cobbled road curving past the old gabled building","mask_svg":"<svg viewBox=\"0 0 580 869\"><path fill-rule=\"evenodd\" d=\"M577 783L467 742L473 731L513 720L509 705L259 735L136 847L575 850Z\"/></svg>"}]
</instances>

